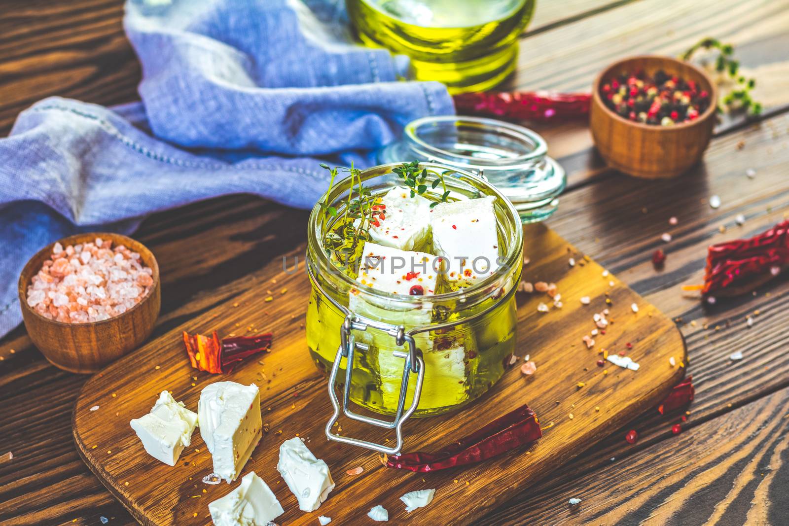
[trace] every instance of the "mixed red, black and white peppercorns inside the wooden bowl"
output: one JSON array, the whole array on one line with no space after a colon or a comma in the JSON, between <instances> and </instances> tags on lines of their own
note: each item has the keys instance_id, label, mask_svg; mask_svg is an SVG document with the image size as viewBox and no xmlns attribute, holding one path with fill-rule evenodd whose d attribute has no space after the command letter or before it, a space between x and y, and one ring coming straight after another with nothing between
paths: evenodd
<instances>
[{"instance_id":1,"label":"mixed red, black and white peppercorns inside the wooden bowl","mask_svg":"<svg viewBox=\"0 0 789 526\"><path fill-rule=\"evenodd\" d=\"M670 126L693 121L710 104L709 92L693 80L671 76L622 73L603 84L600 95L608 108L630 121Z\"/></svg>"}]
</instances>

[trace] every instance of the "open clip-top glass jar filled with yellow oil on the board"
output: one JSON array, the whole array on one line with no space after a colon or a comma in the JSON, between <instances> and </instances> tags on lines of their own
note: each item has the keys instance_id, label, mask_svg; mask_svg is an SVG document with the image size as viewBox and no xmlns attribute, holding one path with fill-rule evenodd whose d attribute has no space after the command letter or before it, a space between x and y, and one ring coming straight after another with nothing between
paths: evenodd
<instances>
[{"instance_id":1,"label":"open clip-top glass jar filled with yellow oil on the board","mask_svg":"<svg viewBox=\"0 0 789 526\"><path fill-rule=\"evenodd\" d=\"M402 179L391 172L396 166L361 172L361 180L373 196L402 185ZM515 292L523 265L523 232L517 212L501 192L479 177L433 163L423 163L420 168L444 172L450 200L495 196L499 267L481 282L433 296L405 296L362 286L346 274L324 240L336 226L333 222L342 217L349 190L352 196L357 195L356 189L349 188L350 177L321 200L335 207L338 215L332 218L326 208L316 205L308 222L307 269L312 293L306 319L307 345L317 366L331 371L329 392L335 416L327 425L327 436L383 453L399 451L400 426L411 414L438 415L484 394L503 375L516 341ZM430 188L435 173L428 177ZM424 194L432 200L440 195ZM394 429L397 444L380 446L332 432L340 412L334 389L338 377L346 416ZM349 401L394 415L394 420L358 415L350 410Z\"/></svg>"}]
</instances>

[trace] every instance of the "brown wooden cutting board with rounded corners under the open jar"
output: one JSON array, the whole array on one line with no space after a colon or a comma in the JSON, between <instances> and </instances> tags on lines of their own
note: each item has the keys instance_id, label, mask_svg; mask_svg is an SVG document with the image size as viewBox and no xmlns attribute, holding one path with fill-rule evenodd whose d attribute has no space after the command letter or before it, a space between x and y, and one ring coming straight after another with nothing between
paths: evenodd
<instances>
[{"instance_id":1,"label":"brown wooden cutting board with rounded corners under the open jar","mask_svg":"<svg viewBox=\"0 0 789 526\"><path fill-rule=\"evenodd\" d=\"M522 375L519 360L492 390L462 411L406 422L404 451L434 451L468 435L485 423L528 402L544 427L543 438L483 464L443 472L416 474L385 468L376 453L328 442L323 427L331 416L327 382L308 356L305 309L309 283L301 267L296 274L271 276L253 283L248 292L208 311L184 326L149 342L85 383L73 413L77 449L107 488L142 524L211 524L208 503L237 487L211 486L201 479L211 473L211 455L200 432L181 453L175 467L143 450L129 420L151 409L162 390L196 411L200 390L211 382L234 380L260 386L260 406L268 432L243 473L254 470L275 492L286 513L279 524L373 524L369 509L383 505L390 521L418 524L468 524L489 509L514 497L547 476L640 413L654 410L682 379L686 349L674 323L613 276L604 276L567 241L542 225L525 229L524 270L529 282L555 282L563 308L537 311L551 304L544 293L518 293L518 355L526 353L537 372ZM576 263L570 267L568 259ZM289 259L292 267L293 258ZM267 292L271 289L271 293ZM286 290L285 293L281 293ZM269 296L274 300L264 301ZM589 305L580 298L589 296ZM611 304L611 325L587 349L582 341L595 328L593 314ZM631 304L638 305L634 312ZM230 375L209 375L189 367L181 330L220 335L275 334L271 353L242 364ZM628 349L630 345L632 349ZM626 351L641 364L630 371L613 364L598 367L598 351ZM607 374L604 374L606 371ZM578 382L585 386L579 387ZM98 406L97 409L91 410ZM570 418L570 414L573 418ZM380 428L341 420L345 435L382 439ZM303 513L276 471L279 445L300 436L316 457L327 462L337 486L315 513ZM393 438L390 438L392 440ZM628 447L624 437L622 446ZM346 471L361 466L361 475ZM406 513L399 500L409 491L436 488L431 505Z\"/></svg>"}]
</instances>

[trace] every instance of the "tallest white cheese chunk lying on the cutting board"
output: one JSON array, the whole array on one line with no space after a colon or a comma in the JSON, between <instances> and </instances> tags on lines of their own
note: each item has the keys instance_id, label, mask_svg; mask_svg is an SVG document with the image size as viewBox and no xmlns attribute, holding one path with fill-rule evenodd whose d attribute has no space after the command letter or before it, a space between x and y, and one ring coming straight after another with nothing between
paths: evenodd
<instances>
[{"instance_id":1,"label":"tallest white cheese chunk lying on the cutting board","mask_svg":"<svg viewBox=\"0 0 789 526\"><path fill-rule=\"evenodd\" d=\"M214 460L214 473L230 483L260 442L260 391L254 383L211 383L200 392L197 413L200 436Z\"/></svg>"}]
</instances>

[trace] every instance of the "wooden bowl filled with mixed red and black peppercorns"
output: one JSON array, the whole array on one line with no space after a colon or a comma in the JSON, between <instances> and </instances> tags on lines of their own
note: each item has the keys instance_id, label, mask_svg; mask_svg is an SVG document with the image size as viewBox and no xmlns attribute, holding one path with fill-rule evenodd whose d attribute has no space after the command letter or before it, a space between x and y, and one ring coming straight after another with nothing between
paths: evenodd
<instances>
[{"instance_id":1,"label":"wooden bowl filled with mixed red and black peppercorns","mask_svg":"<svg viewBox=\"0 0 789 526\"><path fill-rule=\"evenodd\" d=\"M704 155L717 100L715 84L687 62L649 55L615 62L593 85L595 146L616 170L676 177Z\"/></svg>"}]
</instances>

